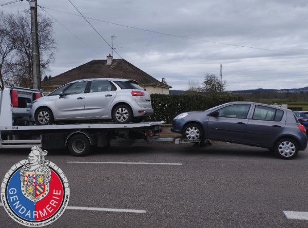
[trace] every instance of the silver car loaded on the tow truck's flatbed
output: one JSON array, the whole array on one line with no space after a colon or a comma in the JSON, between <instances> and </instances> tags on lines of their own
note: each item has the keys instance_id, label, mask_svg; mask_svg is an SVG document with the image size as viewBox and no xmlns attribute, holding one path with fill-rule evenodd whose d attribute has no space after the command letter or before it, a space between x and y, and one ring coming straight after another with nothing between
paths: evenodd
<instances>
[{"instance_id":1,"label":"silver car loaded on the tow truck's flatbed","mask_svg":"<svg viewBox=\"0 0 308 228\"><path fill-rule=\"evenodd\" d=\"M151 98L138 82L87 79L68 83L32 102L30 120L39 125L84 119L139 123L152 114Z\"/></svg>"}]
</instances>

